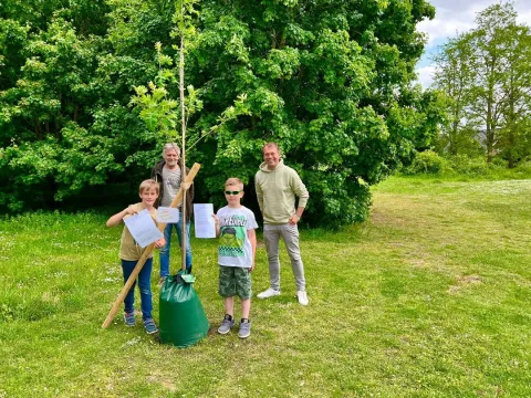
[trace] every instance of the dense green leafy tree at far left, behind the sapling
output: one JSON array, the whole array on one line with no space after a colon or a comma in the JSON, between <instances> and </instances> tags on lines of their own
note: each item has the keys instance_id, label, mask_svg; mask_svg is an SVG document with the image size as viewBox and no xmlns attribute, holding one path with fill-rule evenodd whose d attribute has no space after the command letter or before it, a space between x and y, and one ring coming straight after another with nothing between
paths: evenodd
<instances>
[{"instance_id":1,"label":"dense green leafy tree at far left, behind the sapling","mask_svg":"<svg viewBox=\"0 0 531 398\"><path fill-rule=\"evenodd\" d=\"M133 6L7 1L0 179L9 189L0 206L52 206L90 187L145 178L155 138L127 103L133 86L154 73L152 43L167 38L171 20L153 17L160 11L154 2ZM121 23L129 15L135 34Z\"/></svg>"}]
</instances>

